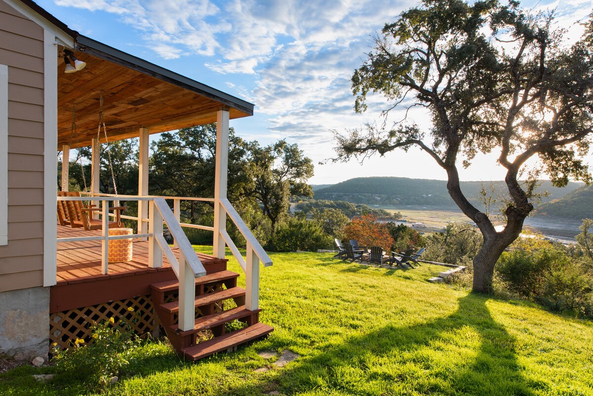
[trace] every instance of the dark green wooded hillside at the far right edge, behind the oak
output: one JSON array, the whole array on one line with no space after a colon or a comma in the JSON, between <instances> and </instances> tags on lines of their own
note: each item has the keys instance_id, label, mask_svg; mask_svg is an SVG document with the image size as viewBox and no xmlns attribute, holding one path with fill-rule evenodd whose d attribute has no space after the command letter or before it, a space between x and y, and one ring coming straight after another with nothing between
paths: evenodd
<instances>
[{"instance_id":1,"label":"dark green wooded hillside at the far right edge, behind the oak","mask_svg":"<svg viewBox=\"0 0 593 396\"><path fill-rule=\"evenodd\" d=\"M536 216L581 220L593 218L593 186L582 186L559 199L544 203Z\"/></svg>"}]
</instances>

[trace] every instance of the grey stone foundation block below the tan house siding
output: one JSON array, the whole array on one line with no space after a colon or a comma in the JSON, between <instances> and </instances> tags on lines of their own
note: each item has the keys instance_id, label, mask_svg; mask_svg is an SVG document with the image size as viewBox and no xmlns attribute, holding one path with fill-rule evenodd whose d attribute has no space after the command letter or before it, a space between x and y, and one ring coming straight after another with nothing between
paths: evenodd
<instances>
[{"instance_id":1,"label":"grey stone foundation block below the tan house siding","mask_svg":"<svg viewBox=\"0 0 593 396\"><path fill-rule=\"evenodd\" d=\"M0 355L47 360L49 288L0 292L0 307Z\"/></svg>"}]
</instances>

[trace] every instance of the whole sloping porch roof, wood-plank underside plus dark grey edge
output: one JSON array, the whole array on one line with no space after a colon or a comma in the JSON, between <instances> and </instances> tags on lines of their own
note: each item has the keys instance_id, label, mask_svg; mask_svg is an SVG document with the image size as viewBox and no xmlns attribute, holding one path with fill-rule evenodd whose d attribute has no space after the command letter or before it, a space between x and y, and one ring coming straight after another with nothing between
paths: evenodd
<instances>
[{"instance_id":1,"label":"whole sloping porch roof, wood-plank underside plus dark grey edge","mask_svg":"<svg viewBox=\"0 0 593 396\"><path fill-rule=\"evenodd\" d=\"M110 140L136 137L141 127L152 134L216 122L221 109L231 119L253 115L247 101L88 37L76 37L75 55L87 62L81 71L64 73L61 58L58 66L58 149L89 146L97 137L101 91Z\"/></svg>"}]
</instances>

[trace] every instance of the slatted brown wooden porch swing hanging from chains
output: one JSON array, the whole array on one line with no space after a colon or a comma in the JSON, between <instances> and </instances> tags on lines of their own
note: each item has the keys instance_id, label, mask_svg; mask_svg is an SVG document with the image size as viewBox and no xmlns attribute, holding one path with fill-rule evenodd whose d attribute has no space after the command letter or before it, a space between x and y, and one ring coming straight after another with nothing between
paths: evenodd
<instances>
[{"instance_id":1,"label":"slatted brown wooden porch swing hanging from chains","mask_svg":"<svg viewBox=\"0 0 593 396\"><path fill-rule=\"evenodd\" d=\"M79 197L80 193L77 191L60 191L58 193L60 197ZM85 207L82 205L82 201L58 201L58 220L60 219L60 203L65 203L65 207L68 212L68 219L62 218L62 221L68 222L68 225L72 228L84 228L85 231L91 231L94 229L103 229L103 221L99 219L93 219L92 213L94 211L102 210L95 205ZM62 205L62 210L63 210ZM109 221L109 228L119 228L122 224L122 212L126 210L126 206L110 207L109 210L114 210L116 221ZM88 215L91 213L91 216ZM66 225L65 223L60 225Z\"/></svg>"}]
</instances>

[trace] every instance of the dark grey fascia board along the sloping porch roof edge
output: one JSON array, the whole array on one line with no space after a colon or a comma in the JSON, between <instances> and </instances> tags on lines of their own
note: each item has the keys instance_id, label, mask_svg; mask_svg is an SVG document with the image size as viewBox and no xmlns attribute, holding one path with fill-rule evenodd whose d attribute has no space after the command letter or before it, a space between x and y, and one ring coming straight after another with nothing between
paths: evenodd
<instances>
[{"instance_id":1,"label":"dark grey fascia board along the sloping porch roof edge","mask_svg":"<svg viewBox=\"0 0 593 396\"><path fill-rule=\"evenodd\" d=\"M75 49L80 52L88 53L89 55L97 56L97 58L109 60L110 62L117 63L118 65L124 66L126 68L153 76L162 81L177 85L178 87L186 88L187 90L196 92L197 94L207 98L211 98L212 100L215 100L219 103L243 111L250 116L253 115L254 104L252 103L229 95L225 92L216 90L216 88L209 87L208 85L177 74L176 72L161 68L161 66L157 66L154 63L150 63L144 59L137 58L136 56L130 55L129 53L100 43L99 41L93 40L90 37L82 35L76 37Z\"/></svg>"}]
</instances>

